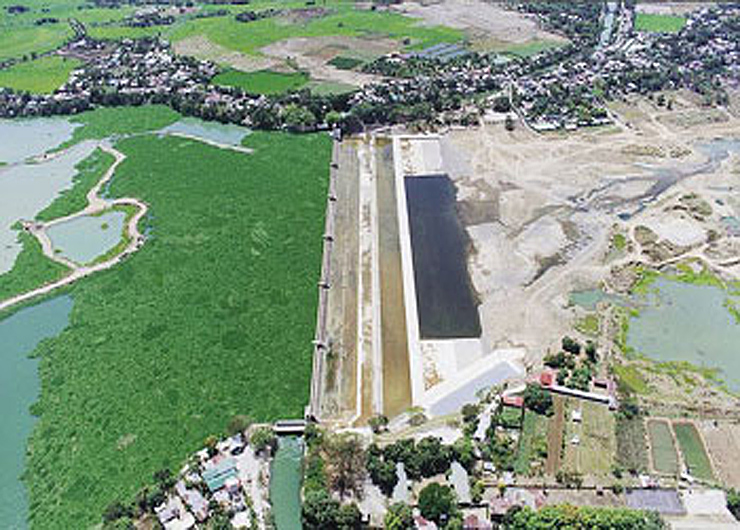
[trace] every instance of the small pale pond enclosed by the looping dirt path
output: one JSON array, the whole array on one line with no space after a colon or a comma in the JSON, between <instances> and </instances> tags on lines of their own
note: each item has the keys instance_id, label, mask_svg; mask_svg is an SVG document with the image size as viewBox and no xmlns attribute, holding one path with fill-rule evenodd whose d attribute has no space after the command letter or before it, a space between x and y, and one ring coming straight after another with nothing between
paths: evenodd
<instances>
[{"instance_id":1,"label":"small pale pond enclosed by the looping dirt path","mask_svg":"<svg viewBox=\"0 0 740 530\"><path fill-rule=\"evenodd\" d=\"M87 264L115 247L123 234L126 212L113 210L86 215L48 229L54 251L79 264Z\"/></svg>"}]
</instances>

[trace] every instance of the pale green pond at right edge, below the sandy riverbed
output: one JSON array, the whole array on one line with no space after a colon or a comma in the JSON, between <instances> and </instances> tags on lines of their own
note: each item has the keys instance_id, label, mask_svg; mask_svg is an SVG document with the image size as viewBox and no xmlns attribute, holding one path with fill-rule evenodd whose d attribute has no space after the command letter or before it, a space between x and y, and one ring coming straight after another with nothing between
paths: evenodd
<instances>
[{"instance_id":1,"label":"pale green pond at right edge, below the sandy riverbed","mask_svg":"<svg viewBox=\"0 0 740 530\"><path fill-rule=\"evenodd\" d=\"M627 345L656 361L688 361L718 368L727 387L740 392L740 325L719 287L659 279L638 317L630 321Z\"/></svg>"}]
</instances>

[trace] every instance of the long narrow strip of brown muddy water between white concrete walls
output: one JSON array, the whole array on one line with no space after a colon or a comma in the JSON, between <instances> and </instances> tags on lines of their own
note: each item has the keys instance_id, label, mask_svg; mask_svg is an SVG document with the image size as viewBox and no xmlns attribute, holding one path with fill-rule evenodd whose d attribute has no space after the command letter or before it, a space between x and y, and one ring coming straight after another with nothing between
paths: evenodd
<instances>
[{"instance_id":1,"label":"long narrow strip of brown muddy water between white concrete walls","mask_svg":"<svg viewBox=\"0 0 740 530\"><path fill-rule=\"evenodd\" d=\"M380 318L383 352L383 409L392 418L411 406L411 375L403 300L393 146L377 146L380 241Z\"/></svg>"}]
</instances>

